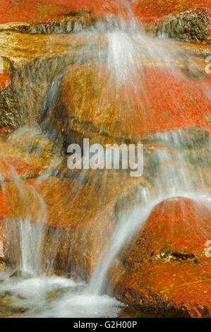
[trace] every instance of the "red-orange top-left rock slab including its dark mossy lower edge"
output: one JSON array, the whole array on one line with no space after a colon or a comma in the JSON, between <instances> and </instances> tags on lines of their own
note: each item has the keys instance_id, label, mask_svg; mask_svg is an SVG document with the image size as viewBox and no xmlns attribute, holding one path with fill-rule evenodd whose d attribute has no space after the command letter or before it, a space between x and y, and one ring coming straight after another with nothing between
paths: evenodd
<instances>
[{"instance_id":1,"label":"red-orange top-left rock slab including its dark mossy lower edge","mask_svg":"<svg viewBox=\"0 0 211 332\"><path fill-rule=\"evenodd\" d=\"M28 27L31 25L33 28L41 23L40 31L38 29L37 33L41 31L45 33L44 26L51 24L59 23L62 27L62 21L65 18L69 21L72 18L73 20L77 18L80 21L80 18L90 20L90 18L106 14L127 16L128 12L127 3L121 0L103 0L100 2L97 0L18 0L10 3L3 0L1 2L0 23L15 22L18 23L17 26Z\"/></svg>"}]
</instances>

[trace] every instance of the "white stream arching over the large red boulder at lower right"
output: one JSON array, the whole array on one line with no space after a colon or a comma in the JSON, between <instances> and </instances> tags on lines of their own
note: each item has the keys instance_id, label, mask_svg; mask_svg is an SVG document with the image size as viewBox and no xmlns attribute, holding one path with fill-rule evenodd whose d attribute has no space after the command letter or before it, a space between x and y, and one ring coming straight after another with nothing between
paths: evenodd
<instances>
[{"instance_id":1,"label":"white stream arching over the large red boulder at lower right","mask_svg":"<svg viewBox=\"0 0 211 332\"><path fill-rule=\"evenodd\" d=\"M135 235L135 232L140 230L157 204L166 199L175 197L190 198L195 202L204 204L207 208L210 208L211 211L211 194L182 191L174 191L173 195L169 194L168 196L160 196L155 201L149 199L148 202L143 203L143 205L138 206L138 208L133 208L120 218L111 238L109 250L100 259L100 263L92 273L92 277L90 278L88 285L88 291L91 294L112 295L112 290L110 290L109 287L108 272L111 264L115 263L114 259L116 255L121 249L123 249L124 246L128 244L133 235Z\"/></svg>"}]
</instances>

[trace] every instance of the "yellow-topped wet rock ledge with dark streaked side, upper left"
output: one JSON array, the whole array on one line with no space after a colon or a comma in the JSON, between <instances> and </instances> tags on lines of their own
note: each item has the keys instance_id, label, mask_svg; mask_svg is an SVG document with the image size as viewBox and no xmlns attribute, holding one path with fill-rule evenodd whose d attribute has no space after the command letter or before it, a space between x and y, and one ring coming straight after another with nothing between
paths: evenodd
<instances>
[{"instance_id":1,"label":"yellow-topped wet rock ledge with dark streaked side, upper left","mask_svg":"<svg viewBox=\"0 0 211 332\"><path fill-rule=\"evenodd\" d=\"M17 129L36 124L42 119L44 100L52 83L59 84L59 75L73 63L76 54L80 56L78 48L83 42L78 36L29 37L18 32L0 32L0 40L0 61L6 59L12 66L9 81L5 80L5 73L0 73L4 80L0 90L0 126ZM90 53L83 52L83 57L88 59Z\"/></svg>"}]
</instances>

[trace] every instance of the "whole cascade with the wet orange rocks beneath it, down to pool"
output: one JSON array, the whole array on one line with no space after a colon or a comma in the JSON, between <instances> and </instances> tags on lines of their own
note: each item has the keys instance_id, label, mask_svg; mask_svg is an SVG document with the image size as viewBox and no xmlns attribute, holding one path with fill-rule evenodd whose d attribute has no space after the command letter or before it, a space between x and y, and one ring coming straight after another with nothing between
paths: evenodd
<instances>
[{"instance_id":1,"label":"whole cascade with the wet orange rocks beneath it, down to pool","mask_svg":"<svg viewBox=\"0 0 211 332\"><path fill-rule=\"evenodd\" d=\"M211 211L204 55L147 35L128 13L129 20L108 16L69 35L0 32L3 42L18 35L25 45L23 59L4 47L16 70L3 126L20 128L0 142L2 315L126 314L113 297L112 271L155 208L188 198ZM37 58L28 42L38 43ZM0 102L9 107L7 93ZM143 143L143 176L68 170L66 147L83 138L102 146Z\"/></svg>"}]
</instances>

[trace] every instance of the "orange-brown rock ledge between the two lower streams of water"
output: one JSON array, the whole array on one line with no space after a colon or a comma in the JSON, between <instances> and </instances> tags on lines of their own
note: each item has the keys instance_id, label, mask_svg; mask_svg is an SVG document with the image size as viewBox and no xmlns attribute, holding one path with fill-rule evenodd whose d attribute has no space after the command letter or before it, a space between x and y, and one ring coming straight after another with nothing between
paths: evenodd
<instances>
[{"instance_id":1,"label":"orange-brown rock ledge between the two lower streams of water","mask_svg":"<svg viewBox=\"0 0 211 332\"><path fill-rule=\"evenodd\" d=\"M6 193L0 192L1 216L8 223L11 218L42 222L43 202L44 271L85 279L109 242L116 221L116 198L128 183L130 179L119 174L100 173L85 182L56 177L8 182Z\"/></svg>"}]
</instances>

